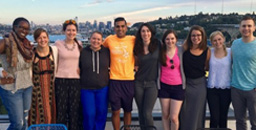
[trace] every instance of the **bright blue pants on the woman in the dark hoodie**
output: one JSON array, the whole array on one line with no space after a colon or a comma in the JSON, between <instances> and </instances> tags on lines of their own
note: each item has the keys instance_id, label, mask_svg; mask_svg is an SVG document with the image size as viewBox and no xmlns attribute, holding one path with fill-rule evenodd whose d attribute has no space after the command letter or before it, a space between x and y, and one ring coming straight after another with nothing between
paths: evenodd
<instances>
[{"instance_id":1,"label":"bright blue pants on the woman in the dark hoodie","mask_svg":"<svg viewBox=\"0 0 256 130\"><path fill-rule=\"evenodd\" d=\"M84 130L104 130L108 113L108 87L102 89L82 89Z\"/></svg>"}]
</instances>

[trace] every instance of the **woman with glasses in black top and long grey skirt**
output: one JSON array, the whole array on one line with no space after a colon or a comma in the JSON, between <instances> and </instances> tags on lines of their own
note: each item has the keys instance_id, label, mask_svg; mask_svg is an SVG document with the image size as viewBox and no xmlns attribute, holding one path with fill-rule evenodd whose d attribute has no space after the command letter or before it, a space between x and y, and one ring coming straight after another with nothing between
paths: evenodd
<instances>
[{"instance_id":1,"label":"woman with glasses in black top and long grey skirt","mask_svg":"<svg viewBox=\"0 0 256 130\"><path fill-rule=\"evenodd\" d=\"M185 100L181 110L181 130L204 128L206 104L205 70L208 70L210 49L201 26L191 27L184 43L183 67L186 76Z\"/></svg>"}]
</instances>

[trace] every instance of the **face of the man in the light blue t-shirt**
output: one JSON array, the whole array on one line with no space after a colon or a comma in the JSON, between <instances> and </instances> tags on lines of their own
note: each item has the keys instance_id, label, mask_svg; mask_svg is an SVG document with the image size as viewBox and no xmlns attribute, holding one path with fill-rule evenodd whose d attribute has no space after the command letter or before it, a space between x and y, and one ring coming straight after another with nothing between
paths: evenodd
<instances>
[{"instance_id":1,"label":"face of the man in the light blue t-shirt","mask_svg":"<svg viewBox=\"0 0 256 130\"><path fill-rule=\"evenodd\" d=\"M253 36L255 24L252 20L243 20L240 24L239 31L243 37Z\"/></svg>"}]
</instances>

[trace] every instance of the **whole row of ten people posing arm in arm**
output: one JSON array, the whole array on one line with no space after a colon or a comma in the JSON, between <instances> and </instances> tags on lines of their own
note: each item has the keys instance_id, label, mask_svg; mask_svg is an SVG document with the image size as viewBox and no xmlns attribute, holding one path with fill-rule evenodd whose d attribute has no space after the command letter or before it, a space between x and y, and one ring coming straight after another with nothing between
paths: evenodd
<instances>
[{"instance_id":1,"label":"whole row of ten people posing arm in arm","mask_svg":"<svg viewBox=\"0 0 256 130\"><path fill-rule=\"evenodd\" d=\"M131 124L133 98L142 130L154 126L157 98L164 130L204 128L207 101L210 127L227 128L231 100L237 130L247 129L247 109L251 129L256 130L254 19L245 16L239 30L242 38L231 49L220 31L211 33L209 48L204 28L194 25L179 46L174 30L167 30L160 41L149 23L141 24L135 36L126 35L126 20L118 17L115 35L103 41L102 33L95 31L83 48L76 39L76 21L66 20L65 39L50 46L47 31L38 28L33 48L26 38L28 20L17 18L0 41L0 95L8 111L8 130L51 123L70 130L104 130L108 104L113 129L119 130L121 108L124 125Z\"/></svg>"}]
</instances>

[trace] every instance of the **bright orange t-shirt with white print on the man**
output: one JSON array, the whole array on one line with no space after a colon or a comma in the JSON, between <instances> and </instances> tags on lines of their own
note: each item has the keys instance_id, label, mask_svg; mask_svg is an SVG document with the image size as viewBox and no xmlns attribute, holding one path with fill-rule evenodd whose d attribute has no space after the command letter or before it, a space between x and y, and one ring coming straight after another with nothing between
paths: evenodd
<instances>
[{"instance_id":1,"label":"bright orange t-shirt with white print on the man","mask_svg":"<svg viewBox=\"0 0 256 130\"><path fill-rule=\"evenodd\" d=\"M110 79L134 80L134 36L108 36L103 45L110 50Z\"/></svg>"}]
</instances>

